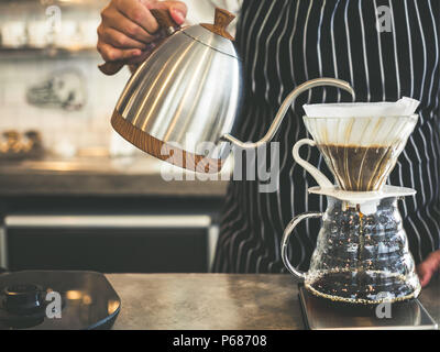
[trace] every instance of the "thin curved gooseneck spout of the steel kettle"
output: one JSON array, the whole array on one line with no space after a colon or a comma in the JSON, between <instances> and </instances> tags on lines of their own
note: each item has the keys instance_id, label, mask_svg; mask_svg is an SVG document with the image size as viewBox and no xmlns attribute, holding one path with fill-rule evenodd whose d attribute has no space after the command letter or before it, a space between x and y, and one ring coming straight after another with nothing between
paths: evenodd
<instances>
[{"instance_id":1,"label":"thin curved gooseneck spout of the steel kettle","mask_svg":"<svg viewBox=\"0 0 440 352\"><path fill-rule=\"evenodd\" d=\"M221 140L227 141L232 143L233 145L240 147L240 148L257 148L268 142L272 141L274 138L275 133L278 131L279 125L283 122L284 117L286 116L287 110L293 106L295 102L296 98L305 92L306 90L309 90L315 87L321 87L321 86L331 86L331 87L337 87L343 90L346 90L348 92L351 94L353 97L353 100L355 100L355 94L353 88L350 86L349 82L341 80L341 79L336 79L336 78L317 78L312 80L308 80L304 82L302 85L298 86L295 88L287 97L284 99L275 119L274 122L272 122L267 133L257 142L241 142L231 134L224 134Z\"/></svg>"}]
</instances>

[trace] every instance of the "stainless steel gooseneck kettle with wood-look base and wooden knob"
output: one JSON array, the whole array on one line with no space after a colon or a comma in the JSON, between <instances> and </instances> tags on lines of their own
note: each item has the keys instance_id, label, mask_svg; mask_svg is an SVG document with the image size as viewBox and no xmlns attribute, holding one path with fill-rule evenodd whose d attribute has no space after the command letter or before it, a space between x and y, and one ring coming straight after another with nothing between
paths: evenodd
<instances>
[{"instance_id":1,"label":"stainless steel gooseneck kettle with wood-look base and wooden knob","mask_svg":"<svg viewBox=\"0 0 440 352\"><path fill-rule=\"evenodd\" d=\"M173 32L176 25L166 11L152 13L162 28ZM245 148L270 142L302 91L330 85L354 96L345 81L308 81L285 99L261 141L238 141L230 133L239 123L243 78L233 37L227 32L233 19L232 13L216 9L215 24L177 30L162 43L127 84L111 119L113 129L157 158L191 170L217 173L230 153L228 143L222 142ZM112 74L123 63L105 66L101 70Z\"/></svg>"}]
</instances>

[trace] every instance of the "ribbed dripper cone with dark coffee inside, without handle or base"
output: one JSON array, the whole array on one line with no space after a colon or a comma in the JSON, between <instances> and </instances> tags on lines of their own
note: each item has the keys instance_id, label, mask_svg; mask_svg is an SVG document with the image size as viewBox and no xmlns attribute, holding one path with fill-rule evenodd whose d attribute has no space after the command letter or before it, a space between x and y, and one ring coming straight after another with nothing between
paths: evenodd
<instances>
[{"instance_id":1,"label":"ribbed dripper cone with dark coffee inside, without handle or base","mask_svg":"<svg viewBox=\"0 0 440 352\"><path fill-rule=\"evenodd\" d=\"M418 117L304 117L307 130L343 190L381 190Z\"/></svg>"}]
</instances>

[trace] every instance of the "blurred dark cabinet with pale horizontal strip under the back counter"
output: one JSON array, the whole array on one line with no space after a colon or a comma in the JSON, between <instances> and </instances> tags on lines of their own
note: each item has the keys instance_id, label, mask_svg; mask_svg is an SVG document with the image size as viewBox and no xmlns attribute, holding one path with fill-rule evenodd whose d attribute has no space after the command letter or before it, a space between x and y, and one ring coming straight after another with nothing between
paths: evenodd
<instances>
[{"instance_id":1,"label":"blurred dark cabinet with pale horizontal strip under the back counter","mask_svg":"<svg viewBox=\"0 0 440 352\"><path fill-rule=\"evenodd\" d=\"M212 199L20 198L3 198L10 271L210 271L220 206Z\"/></svg>"}]
</instances>

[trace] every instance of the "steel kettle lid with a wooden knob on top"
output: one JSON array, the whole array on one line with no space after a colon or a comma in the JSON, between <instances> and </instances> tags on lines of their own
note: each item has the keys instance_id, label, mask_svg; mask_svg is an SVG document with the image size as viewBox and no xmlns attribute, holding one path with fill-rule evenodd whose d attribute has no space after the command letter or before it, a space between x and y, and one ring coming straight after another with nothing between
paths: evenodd
<instances>
[{"instance_id":1,"label":"steel kettle lid with a wooden knob on top","mask_svg":"<svg viewBox=\"0 0 440 352\"><path fill-rule=\"evenodd\" d=\"M215 24L200 23L198 25L191 25L184 29L182 33L218 52L239 58L232 43L234 37L227 31L227 26L234 18L235 15L231 12L217 8Z\"/></svg>"}]
</instances>

